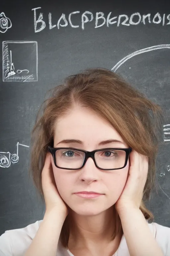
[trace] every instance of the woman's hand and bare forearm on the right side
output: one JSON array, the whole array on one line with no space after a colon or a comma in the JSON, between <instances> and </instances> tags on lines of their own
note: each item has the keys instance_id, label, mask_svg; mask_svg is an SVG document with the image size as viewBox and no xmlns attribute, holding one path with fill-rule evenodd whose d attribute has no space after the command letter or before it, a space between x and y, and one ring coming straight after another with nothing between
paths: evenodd
<instances>
[{"instance_id":1,"label":"woman's hand and bare forearm on the right side","mask_svg":"<svg viewBox=\"0 0 170 256\"><path fill-rule=\"evenodd\" d=\"M131 256L163 256L163 252L140 211L148 173L148 157L132 150L124 190L116 202L123 233ZM137 232L136 232L137 230ZM135 235L134 235L135 234Z\"/></svg>"}]
</instances>

